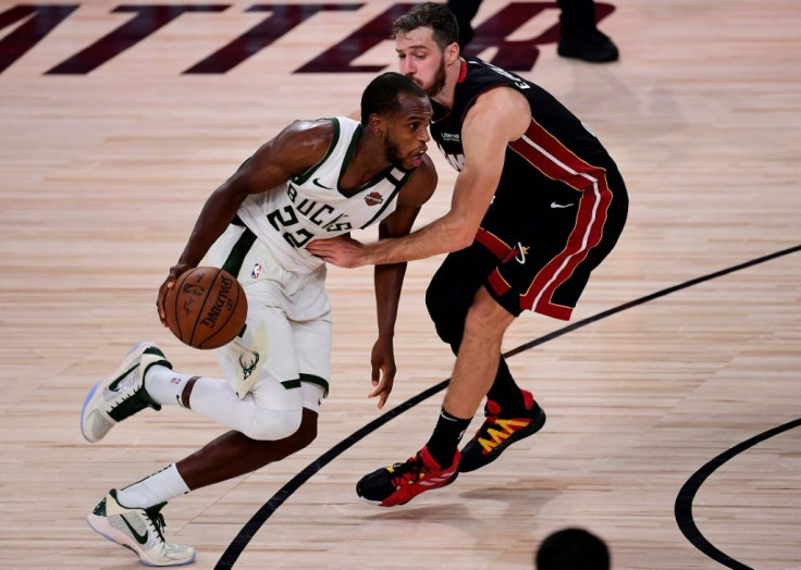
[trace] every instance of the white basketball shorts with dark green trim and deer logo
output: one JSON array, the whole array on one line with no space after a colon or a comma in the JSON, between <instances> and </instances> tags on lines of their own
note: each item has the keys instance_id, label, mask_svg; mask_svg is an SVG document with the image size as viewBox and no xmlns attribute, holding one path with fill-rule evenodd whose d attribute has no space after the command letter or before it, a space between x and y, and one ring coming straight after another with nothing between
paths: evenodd
<instances>
[{"instance_id":1,"label":"white basketball shorts with dark green trim and deer logo","mask_svg":"<svg viewBox=\"0 0 801 570\"><path fill-rule=\"evenodd\" d=\"M325 265L310 274L281 267L244 225L229 225L208 262L230 271L247 295L243 334L218 349L231 386L260 407L318 411L331 377L331 306Z\"/></svg>"}]
</instances>

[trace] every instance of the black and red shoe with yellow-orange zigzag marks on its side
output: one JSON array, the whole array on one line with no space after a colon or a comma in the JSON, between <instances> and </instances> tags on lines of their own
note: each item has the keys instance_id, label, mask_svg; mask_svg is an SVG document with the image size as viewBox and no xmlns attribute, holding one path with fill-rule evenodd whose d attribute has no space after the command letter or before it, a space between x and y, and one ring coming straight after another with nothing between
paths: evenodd
<instances>
[{"instance_id":1,"label":"black and red shoe with yellow-orange zigzag marks on its side","mask_svg":"<svg viewBox=\"0 0 801 570\"><path fill-rule=\"evenodd\" d=\"M528 391L521 391L526 411L506 416L497 402L488 399L486 419L461 449L459 471L467 473L492 463L509 445L533 435L545 424L545 411Z\"/></svg>"}]
</instances>

